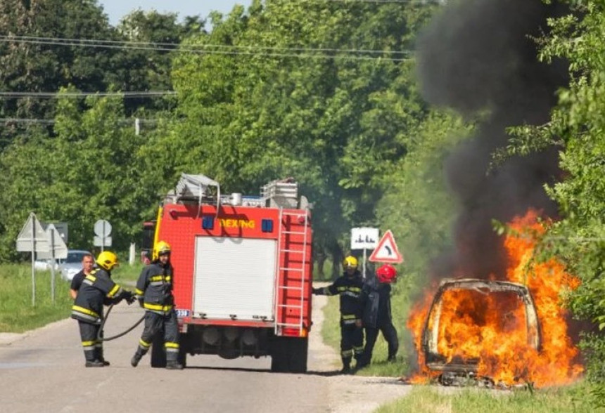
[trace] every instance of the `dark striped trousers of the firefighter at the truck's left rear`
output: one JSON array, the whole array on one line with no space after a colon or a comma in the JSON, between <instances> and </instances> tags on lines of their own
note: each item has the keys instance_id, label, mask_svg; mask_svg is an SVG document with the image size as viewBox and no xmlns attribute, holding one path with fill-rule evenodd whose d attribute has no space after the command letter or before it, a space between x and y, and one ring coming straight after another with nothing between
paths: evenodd
<instances>
[{"instance_id":1,"label":"dark striped trousers of the firefighter at the truck's left rear","mask_svg":"<svg viewBox=\"0 0 605 413\"><path fill-rule=\"evenodd\" d=\"M177 360L179 356L179 324L176 311L171 310L165 314L146 311L145 328L139 340L139 347L136 349L139 359L148 352L156 334L163 334L166 360Z\"/></svg>"}]
</instances>

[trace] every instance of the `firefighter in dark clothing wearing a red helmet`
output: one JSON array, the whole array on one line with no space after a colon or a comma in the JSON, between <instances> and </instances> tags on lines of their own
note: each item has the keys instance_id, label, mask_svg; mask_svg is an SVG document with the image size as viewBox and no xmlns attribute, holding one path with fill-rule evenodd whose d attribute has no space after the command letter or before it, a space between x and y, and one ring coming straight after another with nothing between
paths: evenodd
<instances>
[{"instance_id":1,"label":"firefighter in dark clothing wearing a red helmet","mask_svg":"<svg viewBox=\"0 0 605 413\"><path fill-rule=\"evenodd\" d=\"M362 362L358 367L364 367L370 364L374 343L378 337L378 332L388 343L388 358L390 362L395 361L399 340L397 339L397 330L393 325L393 317L390 310L390 283L397 279L397 270L393 265L381 265L376 270L376 277L371 277L364 283L362 290L363 303L363 325L366 333L366 346Z\"/></svg>"}]
</instances>

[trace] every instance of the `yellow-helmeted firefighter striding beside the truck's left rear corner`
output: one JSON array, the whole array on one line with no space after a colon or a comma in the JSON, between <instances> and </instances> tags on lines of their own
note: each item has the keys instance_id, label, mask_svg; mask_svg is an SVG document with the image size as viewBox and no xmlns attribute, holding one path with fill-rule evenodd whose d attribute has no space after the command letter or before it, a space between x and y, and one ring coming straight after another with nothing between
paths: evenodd
<instances>
[{"instance_id":1,"label":"yellow-helmeted firefighter striding beside the truck's left rear corner","mask_svg":"<svg viewBox=\"0 0 605 413\"><path fill-rule=\"evenodd\" d=\"M132 367L139 365L141 358L148 352L154 336L163 334L166 368L182 369L183 365L178 362L179 325L172 295L170 245L164 241L155 244L152 260L141 271L134 291L141 307L145 308L145 328L130 364Z\"/></svg>"}]
</instances>

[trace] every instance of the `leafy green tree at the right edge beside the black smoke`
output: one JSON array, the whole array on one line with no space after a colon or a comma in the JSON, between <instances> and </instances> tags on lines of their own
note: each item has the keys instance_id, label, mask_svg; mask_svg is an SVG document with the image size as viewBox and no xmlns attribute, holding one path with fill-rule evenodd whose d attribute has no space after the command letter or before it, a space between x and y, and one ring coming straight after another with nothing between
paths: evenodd
<instances>
[{"instance_id":1,"label":"leafy green tree at the right edge beside the black smoke","mask_svg":"<svg viewBox=\"0 0 605 413\"><path fill-rule=\"evenodd\" d=\"M585 336L582 346L590 379L605 381L605 6L600 1L568 1L574 13L550 20L551 32L540 39L540 58L569 65L571 81L559 91L550 122L519 126L509 152L526 154L557 145L564 179L547 188L561 208L542 242L540 256L557 256L582 285L571 293L576 317L597 322L600 334Z\"/></svg>"}]
</instances>

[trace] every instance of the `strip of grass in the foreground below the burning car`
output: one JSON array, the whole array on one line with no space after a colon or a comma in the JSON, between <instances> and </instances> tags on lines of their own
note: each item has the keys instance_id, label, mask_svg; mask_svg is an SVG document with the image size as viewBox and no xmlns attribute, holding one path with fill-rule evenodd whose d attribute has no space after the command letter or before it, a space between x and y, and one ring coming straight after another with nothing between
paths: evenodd
<instances>
[{"instance_id":1,"label":"strip of grass in the foreground below the burning car","mask_svg":"<svg viewBox=\"0 0 605 413\"><path fill-rule=\"evenodd\" d=\"M586 383L533 392L492 391L481 388L434 388L416 386L412 392L376 410L377 413L592 413L597 409Z\"/></svg>"}]
</instances>

